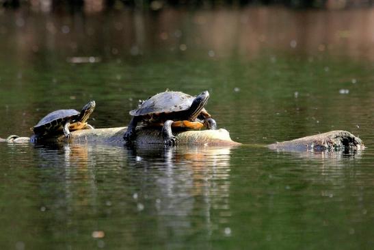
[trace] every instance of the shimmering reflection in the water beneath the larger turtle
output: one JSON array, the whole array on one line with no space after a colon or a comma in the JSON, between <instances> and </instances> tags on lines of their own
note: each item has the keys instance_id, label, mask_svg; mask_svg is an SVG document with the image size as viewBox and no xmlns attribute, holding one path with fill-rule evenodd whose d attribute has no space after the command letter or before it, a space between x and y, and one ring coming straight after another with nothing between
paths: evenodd
<instances>
[{"instance_id":1,"label":"shimmering reflection in the water beneath the larger turtle","mask_svg":"<svg viewBox=\"0 0 374 250\"><path fill-rule=\"evenodd\" d=\"M222 223L215 221L214 214L217 210L229 214L230 150L230 147L143 147L129 151L129 166L137 178L133 182L141 186L136 194L137 208L155 206L157 218L162 218L157 221L157 234L176 235L196 223L204 227L202 232L211 234ZM148 200L144 199L147 196ZM154 203L150 203L149 197Z\"/></svg>"}]
</instances>

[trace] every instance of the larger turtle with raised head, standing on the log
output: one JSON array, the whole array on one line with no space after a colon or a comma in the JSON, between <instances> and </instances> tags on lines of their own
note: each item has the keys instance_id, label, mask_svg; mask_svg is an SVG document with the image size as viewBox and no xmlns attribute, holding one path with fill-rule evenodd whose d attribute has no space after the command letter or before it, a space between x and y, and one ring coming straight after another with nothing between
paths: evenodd
<instances>
[{"instance_id":1,"label":"larger turtle with raised head, standing on the log","mask_svg":"<svg viewBox=\"0 0 374 250\"><path fill-rule=\"evenodd\" d=\"M197 97L183 92L165 91L142 101L136 110L129 113L133 118L123 138L126 143L135 140L137 123L162 126L161 132L165 145L176 145L172 127L183 129L215 129L217 127L204 105L209 99L209 92L204 91Z\"/></svg>"}]
</instances>

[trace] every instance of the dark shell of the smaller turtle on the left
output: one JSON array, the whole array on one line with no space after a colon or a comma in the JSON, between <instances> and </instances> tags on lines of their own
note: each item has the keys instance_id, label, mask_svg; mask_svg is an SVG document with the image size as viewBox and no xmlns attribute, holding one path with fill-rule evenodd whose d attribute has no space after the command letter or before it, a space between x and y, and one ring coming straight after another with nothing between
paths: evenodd
<instances>
[{"instance_id":1,"label":"dark shell of the smaller turtle on the left","mask_svg":"<svg viewBox=\"0 0 374 250\"><path fill-rule=\"evenodd\" d=\"M36 134L53 131L64 125L65 121L78 118L79 114L77 110L56 110L44 116L32 129Z\"/></svg>"}]
</instances>

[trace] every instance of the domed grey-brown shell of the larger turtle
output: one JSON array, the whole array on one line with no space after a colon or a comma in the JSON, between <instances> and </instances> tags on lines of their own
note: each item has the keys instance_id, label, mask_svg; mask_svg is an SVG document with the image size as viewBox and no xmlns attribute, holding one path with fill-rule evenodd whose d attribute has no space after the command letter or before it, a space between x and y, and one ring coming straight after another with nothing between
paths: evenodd
<instances>
[{"instance_id":1,"label":"domed grey-brown shell of the larger turtle","mask_svg":"<svg viewBox=\"0 0 374 250\"><path fill-rule=\"evenodd\" d=\"M132 116L147 114L172 113L188 110L195 97L183 92L167 91L154 95L144 101L139 108L131 110Z\"/></svg>"}]
</instances>

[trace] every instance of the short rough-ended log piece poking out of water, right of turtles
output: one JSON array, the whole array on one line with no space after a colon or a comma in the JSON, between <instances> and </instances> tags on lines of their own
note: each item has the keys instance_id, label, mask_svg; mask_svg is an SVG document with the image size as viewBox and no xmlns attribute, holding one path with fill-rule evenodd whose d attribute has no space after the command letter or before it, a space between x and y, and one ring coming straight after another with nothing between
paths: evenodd
<instances>
[{"instance_id":1,"label":"short rough-ended log piece poking out of water, right of turtles","mask_svg":"<svg viewBox=\"0 0 374 250\"><path fill-rule=\"evenodd\" d=\"M306 136L285 142L276 142L268 145L269 149L282 151L307 151L307 150L340 150L340 149L364 149L362 140L353 134L335 130L314 136Z\"/></svg>"}]
</instances>

